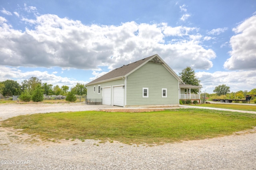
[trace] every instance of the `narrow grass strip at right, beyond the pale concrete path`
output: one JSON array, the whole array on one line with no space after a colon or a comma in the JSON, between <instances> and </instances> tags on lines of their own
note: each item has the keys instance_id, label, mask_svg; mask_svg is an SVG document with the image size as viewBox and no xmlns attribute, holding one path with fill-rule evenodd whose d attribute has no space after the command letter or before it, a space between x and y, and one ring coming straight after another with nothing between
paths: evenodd
<instances>
[{"instance_id":1,"label":"narrow grass strip at right, beyond the pale concrete path","mask_svg":"<svg viewBox=\"0 0 256 170\"><path fill-rule=\"evenodd\" d=\"M236 105L236 104L198 104L196 106L202 107L216 107L223 109L235 109L235 110L247 110L247 111L256 111L256 106L252 105Z\"/></svg>"}]
</instances>

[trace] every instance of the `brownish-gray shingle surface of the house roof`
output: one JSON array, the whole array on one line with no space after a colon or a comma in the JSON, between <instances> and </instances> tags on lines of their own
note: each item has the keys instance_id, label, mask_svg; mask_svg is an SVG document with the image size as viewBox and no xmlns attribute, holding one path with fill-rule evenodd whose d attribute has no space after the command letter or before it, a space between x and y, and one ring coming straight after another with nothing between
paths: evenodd
<instances>
[{"instance_id":1,"label":"brownish-gray shingle surface of the house roof","mask_svg":"<svg viewBox=\"0 0 256 170\"><path fill-rule=\"evenodd\" d=\"M119 68L116 68L116 69L114 69L114 70L104 74L103 76L101 76L99 78L96 78L95 80L89 82L86 85L88 86L88 85L95 84L95 83L98 83L98 82L105 82L105 81L108 81L108 80L114 80L116 78L121 78L123 76L127 76L129 73L131 73L134 70L136 70L136 68L139 68L140 66L146 64L148 61L150 61L154 57L159 57L159 56L156 54L156 55L152 55L150 57L147 57L145 59L141 59L139 61L136 61L134 63L123 65L123 66L121 66ZM164 64L166 64L166 63L164 63ZM169 66L167 64L166 64L166 66L169 68ZM169 69L171 70L171 72L173 72L171 68L169 68ZM176 74L175 72L173 72L173 73ZM177 77L178 77L178 75L176 76L176 78Z\"/></svg>"}]
</instances>

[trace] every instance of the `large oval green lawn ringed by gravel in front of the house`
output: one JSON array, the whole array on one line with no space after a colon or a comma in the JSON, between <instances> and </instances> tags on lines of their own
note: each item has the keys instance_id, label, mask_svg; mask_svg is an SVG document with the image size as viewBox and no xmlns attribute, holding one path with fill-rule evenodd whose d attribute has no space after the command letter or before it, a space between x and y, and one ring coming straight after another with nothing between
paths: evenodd
<instances>
[{"instance_id":1,"label":"large oval green lawn ringed by gravel in front of the house","mask_svg":"<svg viewBox=\"0 0 256 170\"><path fill-rule=\"evenodd\" d=\"M2 127L41 139L100 139L122 143L172 143L231 135L256 126L256 115L210 109L123 113L82 111L20 115Z\"/></svg>"}]
</instances>

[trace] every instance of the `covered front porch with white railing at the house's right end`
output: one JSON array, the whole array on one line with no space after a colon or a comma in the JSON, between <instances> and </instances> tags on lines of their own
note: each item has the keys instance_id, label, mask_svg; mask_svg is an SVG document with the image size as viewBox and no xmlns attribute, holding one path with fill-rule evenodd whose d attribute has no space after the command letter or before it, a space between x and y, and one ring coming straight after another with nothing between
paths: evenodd
<instances>
[{"instance_id":1,"label":"covered front porch with white railing at the house's right end","mask_svg":"<svg viewBox=\"0 0 256 170\"><path fill-rule=\"evenodd\" d=\"M180 100L197 100L200 103L200 89L202 86L180 84ZM198 94L191 94L191 89L198 89Z\"/></svg>"}]
</instances>

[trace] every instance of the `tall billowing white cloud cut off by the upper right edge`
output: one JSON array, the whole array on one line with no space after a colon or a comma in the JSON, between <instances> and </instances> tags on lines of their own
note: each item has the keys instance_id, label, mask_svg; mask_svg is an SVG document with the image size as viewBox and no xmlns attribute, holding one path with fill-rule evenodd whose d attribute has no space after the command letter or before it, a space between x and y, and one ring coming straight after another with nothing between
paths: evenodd
<instances>
[{"instance_id":1,"label":"tall billowing white cloud cut off by the upper right edge","mask_svg":"<svg viewBox=\"0 0 256 170\"><path fill-rule=\"evenodd\" d=\"M256 70L256 16L244 20L233 31L236 35L230 39L232 51L224 63L229 70Z\"/></svg>"}]
</instances>

